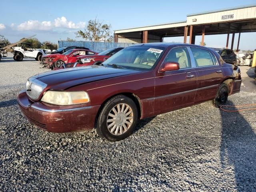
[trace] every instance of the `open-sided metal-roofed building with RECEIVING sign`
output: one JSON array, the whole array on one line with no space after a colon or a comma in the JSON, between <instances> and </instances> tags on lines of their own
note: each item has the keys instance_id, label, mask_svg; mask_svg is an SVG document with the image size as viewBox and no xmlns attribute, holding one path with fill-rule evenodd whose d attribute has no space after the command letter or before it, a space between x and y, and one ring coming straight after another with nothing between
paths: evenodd
<instances>
[{"instance_id":1,"label":"open-sided metal-roofed building with RECEIVING sign","mask_svg":"<svg viewBox=\"0 0 256 192\"><path fill-rule=\"evenodd\" d=\"M202 36L204 44L205 35L227 34L228 48L231 34L230 48L233 49L234 37L238 34L238 50L243 32L256 32L256 4L189 14L186 21L115 30L114 41L149 43L162 42L165 37L184 36L184 43L194 44L196 36Z\"/></svg>"}]
</instances>

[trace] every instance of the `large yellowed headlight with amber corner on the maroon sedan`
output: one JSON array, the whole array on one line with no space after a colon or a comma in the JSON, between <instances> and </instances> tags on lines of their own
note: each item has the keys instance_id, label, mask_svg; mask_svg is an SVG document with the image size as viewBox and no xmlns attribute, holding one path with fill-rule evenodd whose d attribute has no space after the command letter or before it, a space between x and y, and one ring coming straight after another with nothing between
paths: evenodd
<instances>
[{"instance_id":1,"label":"large yellowed headlight with amber corner on the maroon sedan","mask_svg":"<svg viewBox=\"0 0 256 192\"><path fill-rule=\"evenodd\" d=\"M74 105L90 102L88 94L84 91L47 91L41 101L54 105Z\"/></svg>"}]
</instances>

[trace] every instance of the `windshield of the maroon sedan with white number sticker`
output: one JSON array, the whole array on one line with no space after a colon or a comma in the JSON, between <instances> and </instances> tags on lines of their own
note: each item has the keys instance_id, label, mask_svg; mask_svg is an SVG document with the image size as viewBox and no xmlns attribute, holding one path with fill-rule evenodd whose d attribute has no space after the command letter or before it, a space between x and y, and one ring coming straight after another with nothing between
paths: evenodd
<instances>
[{"instance_id":1,"label":"windshield of the maroon sedan with white number sticker","mask_svg":"<svg viewBox=\"0 0 256 192\"><path fill-rule=\"evenodd\" d=\"M102 64L127 69L150 70L162 56L165 48L152 46L134 46L120 50Z\"/></svg>"}]
</instances>

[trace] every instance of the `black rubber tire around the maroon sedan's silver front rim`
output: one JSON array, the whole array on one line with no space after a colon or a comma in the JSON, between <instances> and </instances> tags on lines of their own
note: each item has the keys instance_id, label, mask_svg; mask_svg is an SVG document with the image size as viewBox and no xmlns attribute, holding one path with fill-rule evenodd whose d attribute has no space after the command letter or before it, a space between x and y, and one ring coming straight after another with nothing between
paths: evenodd
<instances>
[{"instance_id":1,"label":"black rubber tire around the maroon sedan's silver front rim","mask_svg":"<svg viewBox=\"0 0 256 192\"><path fill-rule=\"evenodd\" d=\"M106 121L107 121L108 114L109 114L110 110L112 110L112 108L114 106L116 106L117 104L120 104L120 103L128 104L132 108L134 120L133 120L132 125L130 126L128 131L126 131L122 135L115 136L108 131ZM106 103L106 105L102 109L102 112L100 113L100 116L98 118L96 130L100 129L100 132L102 133L102 136L104 136L104 138L106 138L110 141L118 141L118 140L122 140L122 139L128 137L130 134L132 134L132 132L134 131L134 128L137 124L137 120L138 120L138 109L137 109L136 104L134 103L134 101L132 99L130 99L126 96L123 96L123 97L115 98L111 102Z\"/></svg>"}]
</instances>

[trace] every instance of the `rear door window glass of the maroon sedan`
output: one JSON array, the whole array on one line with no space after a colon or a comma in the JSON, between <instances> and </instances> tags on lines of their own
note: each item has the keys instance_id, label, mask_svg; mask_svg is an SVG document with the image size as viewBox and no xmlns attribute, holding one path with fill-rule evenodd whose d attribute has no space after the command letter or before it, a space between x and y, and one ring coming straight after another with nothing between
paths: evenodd
<instances>
[{"instance_id":1,"label":"rear door window glass of the maroon sedan","mask_svg":"<svg viewBox=\"0 0 256 192\"><path fill-rule=\"evenodd\" d=\"M190 49L194 56L197 67L216 65L216 62L214 61L211 53L208 50L201 49L201 48L190 48Z\"/></svg>"}]
</instances>

